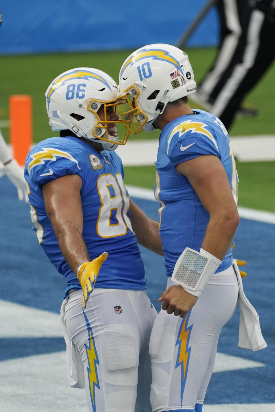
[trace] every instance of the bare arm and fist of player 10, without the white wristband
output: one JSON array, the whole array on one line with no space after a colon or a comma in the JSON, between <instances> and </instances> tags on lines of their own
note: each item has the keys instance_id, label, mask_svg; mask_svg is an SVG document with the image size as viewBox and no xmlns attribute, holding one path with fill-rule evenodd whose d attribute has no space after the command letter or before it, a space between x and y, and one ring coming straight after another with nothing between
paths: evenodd
<instances>
[{"instance_id":1,"label":"bare arm and fist of player 10, without the white wristband","mask_svg":"<svg viewBox=\"0 0 275 412\"><path fill-rule=\"evenodd\" d=\"M237 211L226 171L218 157L212 155L195 157L176 166L176 170L186 176L209 212L202 249L223 260L239 224ZM162 293L162 309L181 317L194 306L197 297L179 286L170 286Z\"/></svg>"}]
</instances>

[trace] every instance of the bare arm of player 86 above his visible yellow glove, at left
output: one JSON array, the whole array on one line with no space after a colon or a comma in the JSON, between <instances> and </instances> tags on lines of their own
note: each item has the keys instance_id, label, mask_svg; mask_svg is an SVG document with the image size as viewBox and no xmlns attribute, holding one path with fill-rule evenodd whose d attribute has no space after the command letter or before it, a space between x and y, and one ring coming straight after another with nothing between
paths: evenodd
<instances>
[{"instance_id":1,"label":"bare arm of player 86 above his visible yellow glove, at left","mask_svg":"<svg viewBox=\"0 0 275 412\"><path fill-rule=\"evenodd\" d=\"M61 252L74 273L80 263L90 260L82 238L81 186L81 178L74 174L51 180L42 187L47 215Z\"/></svg>"}]
</instances>

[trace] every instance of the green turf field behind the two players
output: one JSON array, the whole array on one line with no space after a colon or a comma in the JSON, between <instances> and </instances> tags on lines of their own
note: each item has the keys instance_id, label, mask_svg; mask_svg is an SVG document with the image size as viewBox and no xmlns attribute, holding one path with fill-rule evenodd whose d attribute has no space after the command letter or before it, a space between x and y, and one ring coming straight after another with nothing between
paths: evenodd
<instances>
[{"instance_id":1,"label":"green turf field behind the two players","mask_svg":"<svg viewBox=\"0 0 275 412\"><path fill-rule=\"evenodd\" d=\"M50 82L65 70L75 67L96 67L108 72L116 81L123 61L131 51L82 53L82 54L45 54L30 56L1 56L0 59L0 122L7 120L8 99L12 94L29 94L33 99L33 140L38 142L54 136L48 125L45 91ZM197 82L211 65L216 50L212 48L187 49ZM275 64L247 96L245 104L259 109L258 117L236 119L230 129L231 136L274 134L274 97L270 85L275 78ZM190 105L192 100L190 98ZM9 129L1 129L4 138L9 140ZM150 133L150 138L158 138L159 132ZM141 132L131 139L148 138ZM251 208L275 212L275 162L238 163L240 177L239 204ZM126 167L125 181L133 185L153 187L155 171L149 167Z\"/></svg>"}]
</instances>

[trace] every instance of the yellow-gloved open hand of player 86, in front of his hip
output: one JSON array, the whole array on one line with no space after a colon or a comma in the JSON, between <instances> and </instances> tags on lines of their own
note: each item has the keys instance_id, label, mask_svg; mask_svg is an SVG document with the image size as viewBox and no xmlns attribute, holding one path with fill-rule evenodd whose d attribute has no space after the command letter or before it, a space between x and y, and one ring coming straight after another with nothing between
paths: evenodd
<instances>
[{"instance_id":1,"label":"yellow-gloved open hand of player 86, in front of his hip","mask_svg":"<svg viewBox=\"0 0 275 412\"><path fill-rule=\"evenodd\" d=\"M83 307L86 307L89 296L94 290L94 284L96 283L99 269L103 262L105 262L108 256L107 252L102 253L98 258L92 260L92 262L82 262L76 269L76 277L80 281L80 285L83 290Z\"/></svg>"}]
</instances>

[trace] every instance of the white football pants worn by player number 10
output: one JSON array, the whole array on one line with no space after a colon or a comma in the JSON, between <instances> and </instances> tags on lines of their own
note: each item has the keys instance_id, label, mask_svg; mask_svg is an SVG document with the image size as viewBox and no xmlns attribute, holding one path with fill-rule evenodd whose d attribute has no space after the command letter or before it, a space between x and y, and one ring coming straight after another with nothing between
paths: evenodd
<instances>
[{"instance_id":1,"label":"white football pants worn by player number 10","mask_svg":"<svg viewBox=\"0 0 275 412\"><path fill-rule=\"evenodd\" d=\"M168 278L167 288L176 283ZM185 316L161 310L149 346L153 412L193 410L202 403L214 368L219 334L238 298L233 267L213 275Z\"/></svg>"}]
</instances>

